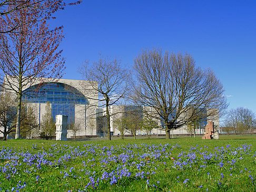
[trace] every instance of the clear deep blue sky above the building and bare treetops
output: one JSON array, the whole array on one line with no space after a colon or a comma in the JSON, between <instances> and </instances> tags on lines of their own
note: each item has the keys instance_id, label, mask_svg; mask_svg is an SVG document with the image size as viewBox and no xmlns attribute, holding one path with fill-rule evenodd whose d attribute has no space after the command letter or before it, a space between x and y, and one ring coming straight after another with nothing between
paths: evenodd
<instances>
[{"instance_id":1,"label":"clear deep blue sky above the building and bare treetops","mask_svg":"<svg viewBox=\"0 0 256 192\"><path fill-rule=\"evenodd\" d=\"M229 108L256 113L256 1L86 1L56 14L63 25L63 78L81 79L77 67L99 53L132 66L142 48L188 52L212 68Z\"/></svg>"}]
</instances>

